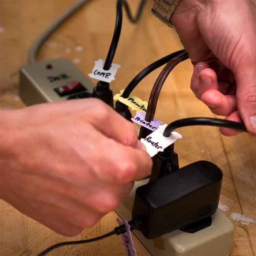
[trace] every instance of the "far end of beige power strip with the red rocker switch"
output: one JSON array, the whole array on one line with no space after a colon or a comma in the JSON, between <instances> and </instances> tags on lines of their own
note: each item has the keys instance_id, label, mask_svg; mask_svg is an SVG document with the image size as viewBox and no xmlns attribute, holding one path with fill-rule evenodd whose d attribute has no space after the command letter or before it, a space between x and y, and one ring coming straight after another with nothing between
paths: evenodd
<instances>
[{"instance_id":1,"label":"far end of beige power strip with the red rocker switch","mask_svg":"<svg viewBox=\"0 0 256 256\"><path fill-rule=\"evenodd\" d=\"M87 98L94 84L68 59L60 58L20 69L19 95L27 105Z\"/></svg>"}]
</instances>

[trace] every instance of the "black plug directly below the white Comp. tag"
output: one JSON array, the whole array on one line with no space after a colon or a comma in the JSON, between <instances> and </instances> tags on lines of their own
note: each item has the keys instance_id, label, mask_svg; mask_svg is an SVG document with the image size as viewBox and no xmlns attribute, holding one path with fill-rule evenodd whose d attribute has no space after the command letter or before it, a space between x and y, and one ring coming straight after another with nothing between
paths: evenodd
<instances>
[{"instance_id":1,"label":"black plug directly below the white Comp. tag","mask_svg":"<svg viewBox=\"0 0 256 256\"><path fill-rule=\"evenodd\" d=\"M97 82L96 87L93 88L92 97L101 99L112 108L114 107L113 92L109 89L109 83L107 82Z\"/></svg>"}]
</instances>

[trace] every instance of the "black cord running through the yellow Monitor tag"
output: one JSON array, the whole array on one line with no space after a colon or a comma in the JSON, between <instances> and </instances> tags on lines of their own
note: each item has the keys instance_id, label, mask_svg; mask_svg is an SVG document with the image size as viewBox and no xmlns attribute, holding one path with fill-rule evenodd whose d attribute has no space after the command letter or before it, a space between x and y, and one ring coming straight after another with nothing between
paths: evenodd
<instances>
[{"instance_id":1,"label":"black cord running through the yellow Monitor tag","mask_svg":"<svg viewBox=\"0 0 256 256\"><path fill-rule=\"evenodd\" d=\"M166 64L168 61L172 60L174 57L176 57L177 55L179 55L180 53L185 52L185 50L178 50L177 52L171 53L165 57L163 57L162 59L159 59L155 62L153 62L152 64L148 65L146 68L144 68L142 71L139 72L138 75L135 76L135 78L133 78L131 80L131 82L128 84L128 86L125 88L122 97L123 98L128 98L129 95L132 93L132 91L135 89L135 87L138 85L138 83L148 74L150 74L151 72L153 72L155 69L161 67L162 65Z\"/></svg>"}]
</instances>

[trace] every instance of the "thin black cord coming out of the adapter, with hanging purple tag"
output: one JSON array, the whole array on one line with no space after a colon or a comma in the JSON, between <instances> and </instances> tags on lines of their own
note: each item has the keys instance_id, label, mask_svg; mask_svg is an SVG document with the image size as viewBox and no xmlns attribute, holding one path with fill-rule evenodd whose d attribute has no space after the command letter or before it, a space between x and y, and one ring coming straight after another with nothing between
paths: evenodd
<instances>
[{"instance_id":1,"label":"thin black cord coming out of the adapter, with hanging purple tag","mask_svg":"<svg viewBox=\"0 0 256 256\"><path fill-rule=\"evenodd\" d=\"M130 230L140 230L142 228L142 222L138 219L138 218L134 218L133 220L129 221L128 222L129 226L130 226ZM107 238L107 237L110 237L110 236L113 236L113 235L120 235L120 234L124 234L126 232L126 227L125 225L120 225L118 227L115 227L115 229L103 236L100 236L100 237L95 237L95 238L92 238L92 239L87 239L87 240L80 240L80 241L68 241L68 242L62 242L62 243L59 243L59 244L55 244L53 246L50 246L49 248L45 249L43 252L39 253L38 256L43 256L43 255L46 255L48 252L56 249L56 248L59 248L61 246L65 246L65 245L73 245L73 244L86 244L86 243L89 243L89 242L95 242L95 241L99 241L103 238Z\"/></svg>"}]
</instances>

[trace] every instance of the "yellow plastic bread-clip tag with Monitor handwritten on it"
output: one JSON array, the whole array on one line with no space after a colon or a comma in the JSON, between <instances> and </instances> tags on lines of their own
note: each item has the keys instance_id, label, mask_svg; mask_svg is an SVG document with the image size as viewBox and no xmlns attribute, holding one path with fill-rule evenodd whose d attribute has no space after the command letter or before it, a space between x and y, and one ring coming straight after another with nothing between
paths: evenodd
<instances>
[{"instance_id":1,"label":"yellow plastic bread-clip tag with Monitor handwritten on it","mask_svg":"<svg viewBox=\"0 0 256 256\"><path fill-rule=\"evenodd\" d=\"M146 113L146 111L147 111L147 102L146 101L142 101L142 99L140 99L139 97L132 95L132 94L130 94L127 99L124 99L123 97L121 97L121 95L123 94L123 91L124 90L121 90L120 93L114 95L115 101L117 100L117 101L124 103L125 105L130 107L132 110L139 110L139 111L143 111Z\"/></svg>"}]
</instances>

